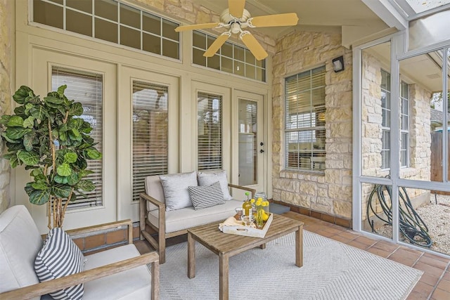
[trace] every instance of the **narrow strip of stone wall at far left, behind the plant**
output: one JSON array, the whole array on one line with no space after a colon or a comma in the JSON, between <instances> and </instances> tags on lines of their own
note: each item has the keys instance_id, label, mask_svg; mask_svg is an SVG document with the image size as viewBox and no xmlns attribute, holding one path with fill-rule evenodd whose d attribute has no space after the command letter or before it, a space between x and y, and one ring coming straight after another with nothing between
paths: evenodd
<instances>
[{"instance_id":1,"label":"narrow strip of stone wall at far left, behind the plant","mask_svg":"<svg viewBox=\"0 0 450 300\"><path fill-rule=\"evenodd\" d=\"M13 1L0 0L0 117L11 113L11 80L12 80L12 48L13 38ZM0 138L0 212L8 208L11 198L9 181L11 168L4 155L6 147Z\"/></svg>"}]
</instances>

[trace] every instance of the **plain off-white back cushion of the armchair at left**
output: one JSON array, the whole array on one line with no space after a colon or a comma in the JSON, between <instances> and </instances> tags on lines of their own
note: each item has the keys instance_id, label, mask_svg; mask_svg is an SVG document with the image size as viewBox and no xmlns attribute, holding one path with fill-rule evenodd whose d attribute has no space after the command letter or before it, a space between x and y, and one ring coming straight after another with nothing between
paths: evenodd
<instances>
[{"instance_id":1,"label":"plain off-white back cushion of the armchair at left","mask_svg":"<svg viewBox=\"0 0 450 300\"><path fill-rule=\"evenodd\" d=\"M41 235L25 206L0 214L0 293L39 283L34 259L41 247Z\"/></svg>"}]
</instances>

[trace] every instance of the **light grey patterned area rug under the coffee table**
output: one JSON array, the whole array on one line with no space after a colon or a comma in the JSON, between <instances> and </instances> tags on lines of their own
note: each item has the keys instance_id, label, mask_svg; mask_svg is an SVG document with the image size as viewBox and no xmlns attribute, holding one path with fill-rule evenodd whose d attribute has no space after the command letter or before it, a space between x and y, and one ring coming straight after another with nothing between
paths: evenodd
<instances>
[{"instance_id":1,"label":"light grey patterned area rug under the coffee table","mask_svg":"<svg viewBox=\"0 0 450 300\"><path fill-rule=\"evenodd\" d=\"M195 242L195 278L187 277L187 243L167 247L160 298L219 299L219 257ZM303 266L295 234L229 259L229 299L405 299L422 275L401 263L303 231Z\"/></svg>"}]
</instances>

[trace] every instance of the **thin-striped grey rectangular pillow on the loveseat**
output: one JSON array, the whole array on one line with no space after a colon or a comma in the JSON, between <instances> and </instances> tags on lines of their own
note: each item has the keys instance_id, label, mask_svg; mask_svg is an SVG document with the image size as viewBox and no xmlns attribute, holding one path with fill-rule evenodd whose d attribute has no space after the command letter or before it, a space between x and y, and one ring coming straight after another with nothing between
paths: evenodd
<instances>
[{"instance_id":1,"label":"thin-striped grey rectangular pillow on the loveseat","mask_svg":"<svg viewBox=\"0 0 450 300\"><path fill-rule=\"evenodd\" d=\"M219 181L212 185L190 186L188 190L195 210L225 203Z\"/></svg>"}]
</instances>

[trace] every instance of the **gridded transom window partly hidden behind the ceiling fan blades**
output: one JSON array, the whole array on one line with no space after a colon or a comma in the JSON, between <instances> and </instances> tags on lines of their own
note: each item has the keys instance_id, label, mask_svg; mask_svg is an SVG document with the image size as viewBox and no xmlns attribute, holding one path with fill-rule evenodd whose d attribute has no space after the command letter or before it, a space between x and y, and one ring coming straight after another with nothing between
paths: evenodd
<instances>
[{"instance_id":1,"label":"gridded transom window partly hidden behind the ceiling fan blades","mask_svg":"<svg viewBox=\"0 0 450 300\"><path fill-rule=\"evenodd\" d=\"M226 41L211 58L203 53L211 46L216 37L194 30L192 34L192 61L195 65L203 65L249 79L266 81L266 60L256 60L255 56L242 46Z\"/></svg>"}]
</instances>

